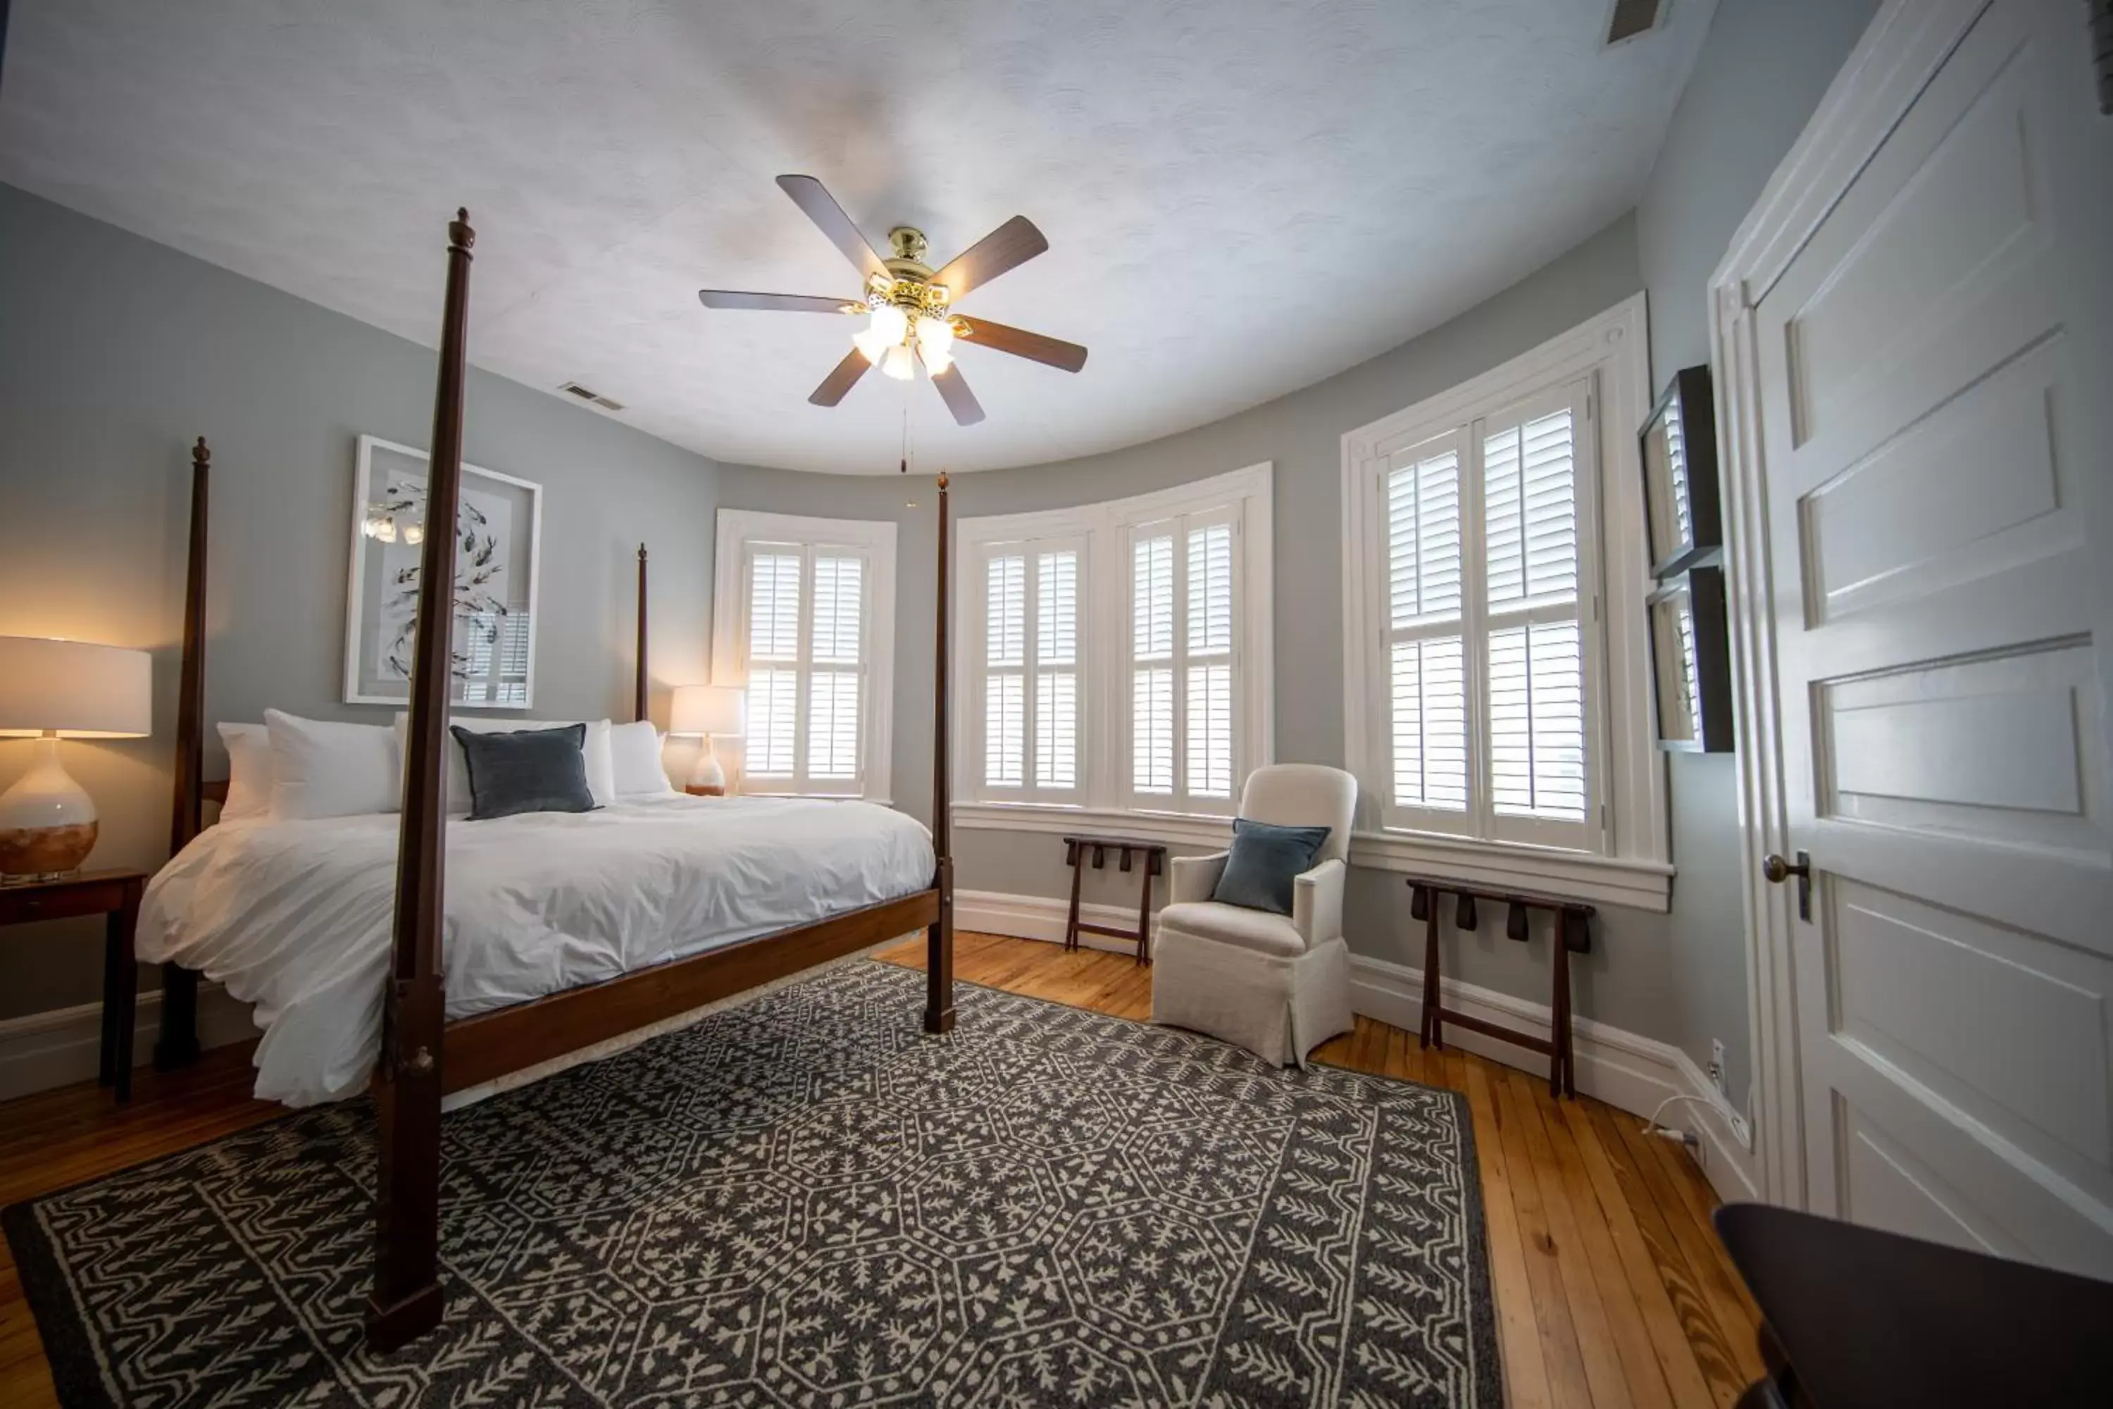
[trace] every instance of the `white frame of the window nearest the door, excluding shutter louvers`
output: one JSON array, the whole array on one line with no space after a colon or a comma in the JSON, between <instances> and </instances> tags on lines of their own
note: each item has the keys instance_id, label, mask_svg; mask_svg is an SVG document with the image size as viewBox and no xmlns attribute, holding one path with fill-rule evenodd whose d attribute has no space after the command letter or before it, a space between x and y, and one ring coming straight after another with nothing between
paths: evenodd
<instances>
[{"instance_id":1,"label":"white frame of the window nearest the door, excluding shutter louvers","mask_svg":"<svg viewBox=\"0 0 2113 1409\"><path fill-rule=\"evenodd\" d=\"M1585 382L1578 454L1578 621L1585 653L1587 815L1572 824L1494 824L1488 786L1488 680L1481 499L1483 422ZM1635 435L1648 416L1644 296L1342 437L1344 756L1359 779L1352 862L1490 887L1665 910L1671 885L1665 765L1644 634L1650 589ZM1395 807L1386 598L1386 475L1403 454L1458 435L1462 499L1462 659L1469 674L1469 813ZM1589 480L1589 484L1587 484ZM1473 482L1473 484L1471 484ZM1587 524L1591 520L1591 524ZM1585 600L1591 596L1593 600ZM1504 615L1513 615L1504 610ZM1578 845L1583 841L1585 845Z\"/></svg>"}]
</instances>

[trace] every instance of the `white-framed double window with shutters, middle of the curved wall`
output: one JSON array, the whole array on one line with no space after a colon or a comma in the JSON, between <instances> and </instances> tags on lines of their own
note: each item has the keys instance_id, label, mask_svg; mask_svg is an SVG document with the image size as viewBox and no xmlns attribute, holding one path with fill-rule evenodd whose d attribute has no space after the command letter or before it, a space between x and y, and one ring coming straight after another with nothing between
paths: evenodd
<instances>
[{"instance_id":1,"label":"white-framed double window with shutters, middle of the curved wall","mask_svg":"<svg viewBox=\"0 0 2113 1409\"><path fill-rule=\"evenodd\" d=\"M1230 818L1268 756L1270 467L959 534L968 820Z\"/></svg>"}]
</instances>

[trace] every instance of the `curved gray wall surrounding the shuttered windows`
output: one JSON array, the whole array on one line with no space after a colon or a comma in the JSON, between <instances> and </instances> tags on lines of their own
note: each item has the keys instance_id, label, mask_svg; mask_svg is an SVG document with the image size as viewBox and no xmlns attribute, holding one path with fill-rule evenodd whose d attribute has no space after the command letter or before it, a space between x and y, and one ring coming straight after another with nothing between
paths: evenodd
<instances>
[{"instance_id":1,"label":"curved gray wall surrounding the shuttered windows","mask_svg":"<svg viewBox=\"0 0 2113 1409\"><path fill-rule=\"evenodd\" d=\"M1342 433L1485 372L1635 294L1635 224L1616 220L1547 268L1458 319L1348 372L1181 435L1061 465L985 471L955 480L961 515L1021 513L1141 494L1272 461L1276 572L1276 756L1342 763ZM1054 374L1052 374L1054 376ZM1004 408L991 408L1002 416ZM932 480L786 475L721 467L721 503L778 513L894 518L898 547L896 803L930 813L932 775ZM906 507L917 501L917 507ZM1069 872L1054 837L957 830L966 889L1063 896ZM1088 877L1088 900L1135 904L1128 877ZM1737 919L1737 917L1733 917ZM1420 965L1407 942L1407 887L1386 872L1354 872L1350 942L1361 953ZM1485 925L1460 944L1458 972L1547 1001L1540 942L1492 940ZM1578 965L1581 1014L1631 1031L1667 1029L1667 923L1663 915L1606 913L1604 944Z\"/></svg>"}]
</instances>

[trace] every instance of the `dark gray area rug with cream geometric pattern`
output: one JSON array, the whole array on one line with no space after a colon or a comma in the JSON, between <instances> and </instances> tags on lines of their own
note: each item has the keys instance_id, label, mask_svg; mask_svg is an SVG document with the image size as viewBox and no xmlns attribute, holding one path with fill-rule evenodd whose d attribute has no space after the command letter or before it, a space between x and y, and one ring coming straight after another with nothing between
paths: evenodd
<instances>
[{"instance_id":1,"label":"dark gray area rug with cream geometric pattern","mask_svg":"<svg viewBox=\"0 0 2113 1409\"><path fill-rule=\"evenodd\" d=\"M1498 1405L1466 1103L854 963L446 1120L359 1339L366 1105L6 1210L66 1405Z\"/></svg>"}]
</instances>

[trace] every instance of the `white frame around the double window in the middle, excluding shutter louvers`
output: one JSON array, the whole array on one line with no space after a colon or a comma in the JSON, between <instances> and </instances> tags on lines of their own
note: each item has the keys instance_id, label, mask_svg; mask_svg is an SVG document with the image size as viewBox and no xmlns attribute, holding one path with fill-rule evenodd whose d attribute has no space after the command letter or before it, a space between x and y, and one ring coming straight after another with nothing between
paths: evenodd
<instances>
[{"instance_id":1,"label":"white frame around the double window in the middle, excluding shutter louvers","mask_svg":"<svg viewBox=\"0 0 2113 1409\"><path fill-rule=\"evenodd\" d=\"M1044 509L964 518L955 524L964 591L957 600L955 640L961 670L955 678L955 820L966 826L1010 830L1078 828L1107 820L1133 830L1198 824L1219 834L1238 805L1247 773L1274 756L1274 642L1272 642L1272 465L1249 465L1209 480L1149 494ZM1130 792L1130 539L1133 530L1164 520L1223 515L1234 524L1234 760L1228 799ZM985 651L987 562L1006 545L1082 545L1080 551L1080 729L1076 796L1035 788L985 784ZM1004 556L997 551L997 556ZM1179 558L1179 556L1177 556ZM1029 575L1033 558L1029 551ZM1177 602L1188 581L1177 577ZM1177 621L1181 610L1177 610ZM1185 644L1185 642L1183 642ZM1177 659L1179 653L1177 653ZM1177 691L1179 695L1179 691ZM1177 754L1183 735L1177 733ZM1029 754L1033 739L1027 739ZM1177 777L1183 760L1177 758ZM1029 756L1031 769L1031 756Z\"/></svg>"}]
</instances>

